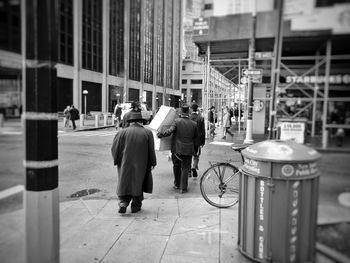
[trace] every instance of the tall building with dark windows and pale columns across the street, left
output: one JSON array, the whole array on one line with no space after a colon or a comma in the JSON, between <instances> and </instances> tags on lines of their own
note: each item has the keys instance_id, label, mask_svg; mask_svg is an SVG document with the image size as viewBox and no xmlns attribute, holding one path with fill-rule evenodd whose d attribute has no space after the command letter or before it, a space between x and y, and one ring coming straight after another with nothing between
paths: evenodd
<instances>
[{"instance_id":1,"label":"tall building with dark windows and pale columns across the street, left","mask_svg":"<svg viewBox=\"0 0 350 263\"><path fill-rule=\"evenodd\" d=\"M0 108L21 108L21 1L1 1ZM57 0L57 111L179 106L183 1ZM85 91L85 93L84 93ZM84 95L86 94L87 95Z\"/></svg>"}]
</instances>

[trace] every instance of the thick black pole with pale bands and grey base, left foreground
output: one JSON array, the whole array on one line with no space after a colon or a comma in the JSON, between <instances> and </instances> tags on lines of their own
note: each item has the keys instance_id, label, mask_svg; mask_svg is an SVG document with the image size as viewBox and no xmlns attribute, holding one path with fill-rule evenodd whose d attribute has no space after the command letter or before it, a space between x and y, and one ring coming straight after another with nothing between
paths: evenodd
<instances>
[{"instance_id":1,"label":"thick black pole with pale bands and grey base, left foreground","mask_svg":"<svg viewBox=\"0 0 350 263\"><path fill-rule=\"evenodd\" d=\"M58 1L22 0L25 53L26 262L59 262L57 147ZM27 41L26 36L30 36Z\"/></svg>"}]
</instances>

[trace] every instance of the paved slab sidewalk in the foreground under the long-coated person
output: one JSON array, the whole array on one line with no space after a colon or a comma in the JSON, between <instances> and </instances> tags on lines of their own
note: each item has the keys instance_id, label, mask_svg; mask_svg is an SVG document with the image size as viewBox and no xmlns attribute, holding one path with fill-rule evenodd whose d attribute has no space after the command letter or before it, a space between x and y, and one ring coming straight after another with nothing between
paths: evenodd
<instances>
[{"instance_id":1,"label":"paved slab sidewalk in the foreground under the long-coated person","mask_svg":"<svg viewBox=\"0 0 350 263\"><path fill-rule=\"evenodd\" d=\"M237 246L237 206L218 209L186 194L146 195L139 213L128 208L121 215L117 202L90 195L60 203L60 262L251 262ZM319 205L318 224L337 222L350 222L349 208ZM0 229L0 261L25 262L24 211L0 215ZM335 261L318 251L316 262Z\"/></svg>"}]
</instances>

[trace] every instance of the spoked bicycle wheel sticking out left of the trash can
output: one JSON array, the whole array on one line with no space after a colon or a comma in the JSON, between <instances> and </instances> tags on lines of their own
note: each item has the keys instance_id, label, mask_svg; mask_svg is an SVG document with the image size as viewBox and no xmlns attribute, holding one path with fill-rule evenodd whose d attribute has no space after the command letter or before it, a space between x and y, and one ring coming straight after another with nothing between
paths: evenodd
<instances>
[{"instance_id":1,"label":"spoked bicycle wheel sticking out left of the trash can","mask_svg":"<svg viewBox=\"0 0 350 263\"><path fill-rule=\"evenodd\" d=\"M229 163L216 163L209 167L200 180L203 198L218 208L238 203L239 170Z\"/></svg>"}]
</instances>

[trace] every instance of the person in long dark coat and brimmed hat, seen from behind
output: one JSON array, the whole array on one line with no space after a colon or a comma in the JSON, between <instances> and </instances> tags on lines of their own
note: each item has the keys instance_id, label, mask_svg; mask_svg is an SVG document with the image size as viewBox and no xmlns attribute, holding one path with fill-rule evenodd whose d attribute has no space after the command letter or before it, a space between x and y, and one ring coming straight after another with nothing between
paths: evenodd
<instances>
[{"instance_id":1,"label":"person in long dark coat and brimmed hat, seen from behind","mask_svg":"<svg viewBox=\"0 0 350 263\"><path fill-rule=\"evenodd\" d=\"M117 133L112 145L114 165L118 167L119 213L141 210L143 192L152 193L151 170L157 165L153 134L143 127L141 112L130 114L129 126Z\"/></svg>"}]
</instances>

